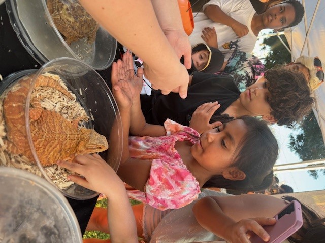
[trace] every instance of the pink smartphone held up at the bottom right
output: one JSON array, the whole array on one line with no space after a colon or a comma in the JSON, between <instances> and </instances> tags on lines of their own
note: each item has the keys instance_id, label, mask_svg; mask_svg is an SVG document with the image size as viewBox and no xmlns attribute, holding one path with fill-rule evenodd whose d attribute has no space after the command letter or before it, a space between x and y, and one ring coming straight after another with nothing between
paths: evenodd
<instances>
[{"instance_id":1,"label":"pink smartphone held up at the bottom right","mask_svg":"<svg viewBox=\"0 0 325 243\"><path fill-rule=\"evenodd\" d=\"M276 223L272 226L265 226L264 229L270 235L267 243L281 243L283 240L293 235L303 225L303 216L301 205L298 201L293 200L283 210L273 218ZM265 243L258 235L250 237L252 243Z\"/></svg>"}]
</instances>

